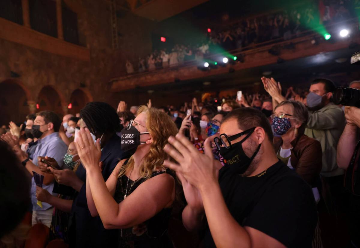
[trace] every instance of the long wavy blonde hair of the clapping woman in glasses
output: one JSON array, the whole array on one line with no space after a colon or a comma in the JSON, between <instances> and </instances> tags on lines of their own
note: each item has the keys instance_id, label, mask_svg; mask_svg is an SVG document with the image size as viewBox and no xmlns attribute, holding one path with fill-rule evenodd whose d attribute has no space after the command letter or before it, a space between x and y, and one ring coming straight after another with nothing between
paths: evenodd
<instances>
[{"instance_id":1,"label":"long wavy blonde hair of the clapping woman in glasses","mask_svg":"<svg viewBox=\"0 0 360 248\"><path fill-rule=\"evenodd\" d=\"M150 144L150 151L141 162L140 178L149 179L154 171L165 170L164 160L170 157L164 151L164 146L168 143L167 139L175 136L179 130L170 116L158 109L140 106L137 115L142 112L146 113L146 128L153 142ZM127 164L121 166L118 177L126 174L133 167L134 159L131 156Z\"/></svg>"}]
</instances>

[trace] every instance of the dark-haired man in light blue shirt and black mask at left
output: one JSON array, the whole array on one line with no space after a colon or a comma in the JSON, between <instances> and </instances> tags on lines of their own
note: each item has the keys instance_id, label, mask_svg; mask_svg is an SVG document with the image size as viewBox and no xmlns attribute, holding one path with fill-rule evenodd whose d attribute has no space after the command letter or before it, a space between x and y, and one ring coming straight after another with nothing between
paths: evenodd
<instances>
[{"instance_id":1,"label":"dark-haired man in light blue shirt and black mask at left","mask_svg":"<svg viewBox=\"0 0 360 248\"><path fill-rule=\"evenodd\" d=\"M36 150L32 161L28 159L23 160L23 164L31 175L33 175L32 171L44 175L42 188L48 190L50 193L53 192L54 176L53 174L42 173L37 162L38 157L48 156L54 158L61 168L63 167L63 159L67 152L67 146L59 137L58 131L60 125L61 120L53 111L41 111L37 113L34 124L32 125L32 134L35 138L38 138ZM53 216L53 207L45 202L42 202L42 207L37 205L36 184L34 178L32 178L31 185L31 202L33 205L32 225L41 222L50 227Z\"/></svg>"}]
</instances>

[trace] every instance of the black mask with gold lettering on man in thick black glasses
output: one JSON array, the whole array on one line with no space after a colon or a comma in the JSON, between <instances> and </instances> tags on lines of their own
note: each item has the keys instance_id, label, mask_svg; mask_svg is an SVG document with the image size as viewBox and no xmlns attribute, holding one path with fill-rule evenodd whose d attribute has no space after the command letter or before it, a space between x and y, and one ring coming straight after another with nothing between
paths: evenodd
<instances>
[{"instance_id":1,"label":"black mask with gold lettering on man in thick black glasses","mask_svg":"<svg viewBox=\"0 0 360 248\"><path fill-rule=\"evenodd\" d=\"M230 149L220 147L220 155L226 159L226 162L230 165L230 170L237 174L243 174L250 166L252 160L260 150L261 144L257 147L254 154L249 158L246 156L242 143L251 136L254 132L250 132L242 141L231 144Z\"/></svg>"}]
</instances>

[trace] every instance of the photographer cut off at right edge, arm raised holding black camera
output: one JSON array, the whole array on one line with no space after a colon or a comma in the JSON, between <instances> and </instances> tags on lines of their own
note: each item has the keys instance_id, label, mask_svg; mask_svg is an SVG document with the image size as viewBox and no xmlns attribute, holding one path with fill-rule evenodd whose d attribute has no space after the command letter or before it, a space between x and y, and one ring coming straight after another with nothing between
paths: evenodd
<instances>
[{"instance_id":1,"label":"photographer cut off at right edge, arm raised holding black camera","mask_svg":"<svg viewBox=\"0 0 360 248\"><path fill-rule=\"evenodd\" d=\"M359 81L358 81L359 82ZM357 83L359 84L359 83ZM354 87L354 84L350 84ZM360 85L359 85L360 86ZM359 87L360 88L360 87ZM359 127L360 109L345 106L346 126L337 146L337 164L346 170L345 187L350 194L350 235L354 247L360 246ZM356 170L358 171L356 174ZM357 181L358 180L358 181ZM356 184L357 181L357 184Z\"/></svg>"}]
</instances>

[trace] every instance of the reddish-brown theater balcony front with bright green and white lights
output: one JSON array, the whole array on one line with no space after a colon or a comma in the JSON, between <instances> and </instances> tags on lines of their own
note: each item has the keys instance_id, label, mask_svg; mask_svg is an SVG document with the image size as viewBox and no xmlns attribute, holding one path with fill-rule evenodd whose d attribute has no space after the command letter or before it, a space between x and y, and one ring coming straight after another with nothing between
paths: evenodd
<instances>
[{"instance_id":1,"label":"reddish-brown theater balcony front with bright green and white lights","mask_svg":"<svg viewBox=\"0 0 360 248\"><path fill-rule=\"evenodd\" d=\"M345 37L339 35L343 27L349 31ZM326 32L332 36L329 40L325 39L328 38L324 36ZM183 65L121 75L112 78L108 87L112 92L137 89L139 92L194 93L194 90L214 90L220 85L223 90L253 86L254 82L260 82L262 75L281 79L291 74L292 81L301 81L300 74L306 77L317 72L336 73L336 70L344 71L344 68L347 71L351 55L360 50L359 44L358 19L353 18L305 30L292 35L289 40L279 38L213 54L202 60L188 61ZM237 60L234 61L235 56ZM226 64L221 63L224 57L229 60ZM208 62L207 68L204 67L205 62ZM292 68L291 71L289 68ZM206 81L211 85L204 83Z\"/></svg>"}]
</instances>

